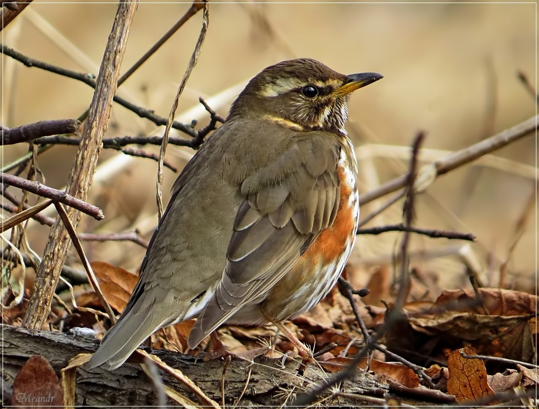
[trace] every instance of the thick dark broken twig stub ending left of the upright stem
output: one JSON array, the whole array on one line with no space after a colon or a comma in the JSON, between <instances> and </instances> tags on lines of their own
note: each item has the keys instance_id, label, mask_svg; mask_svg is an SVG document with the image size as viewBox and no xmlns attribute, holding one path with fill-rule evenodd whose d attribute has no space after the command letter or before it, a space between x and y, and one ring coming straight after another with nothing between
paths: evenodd
<instances>
[{"instance_id":1,"label":"thick dark broken twig stub ending left of the upright stem","mask_svg":"<svg viewBox=\"0 0 539 409\"><path fill-rule=\"evenodd\" d=\"M49 119L2 130L2 145L18 144L57 133L74 133L80 126L76 119Z\"/></svg>"}]
</instances>

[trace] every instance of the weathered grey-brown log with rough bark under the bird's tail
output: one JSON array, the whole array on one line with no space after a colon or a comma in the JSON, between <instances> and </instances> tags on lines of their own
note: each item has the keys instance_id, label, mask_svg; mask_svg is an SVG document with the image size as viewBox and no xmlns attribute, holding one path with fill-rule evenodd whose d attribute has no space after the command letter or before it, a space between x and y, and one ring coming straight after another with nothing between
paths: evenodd
<instances>
[{"instance_id":1,"label":"weathered grey-brown log with rough bark under the bird's tail","mask_svg":"<svg viewBox=\"0 0 539 409\"><path fill-rule=\"evenodd\" d=\"M67 366L71 358L78 354L94 352L98 340L73 337L64 333L32 330L2 325L4 402L9 403L10 385L20 368L32 355L41 355L47 359L60 377L60 370ZM195 362L194 357L165 350L152 350L172 368L181 370L193 380L206 395L223 405L222 379L224 377L224 404L234 405L244 390L245 393L237 404L239 407L280 406L290 403L295 393L308 392L330 374L314 364L309 364L303 373L299 373L300 362L288 358L284 365L281 359L263 356L252 362L233 357L230 363L213 360ZM250 376L248 376L248 373ZM196 394L175 378L160 371L165 386L198 402ZM383 382L383 381L382 381ZM388 393L388 385L366 372L358 371L354 379L345 381L340 391L353 394L351 397L334 395L324 401L326 405L355 406L365 403L365 398L383 398ZM288 392L291 392L289 394ZM326 397L331 392L326 392ZM127 406L148 407L157 404L157 392L154 383L148 378L141 366L126 363L120 368L108 371L101 368L86 369L85 365L77 369L75 384L75 407ZM363 396L363 398L362 398ZM323 397L322 397L323 398ZM169 405L175 405L169 401ZM176 404L177 405L177 404ZM361 405L370 407L370 405Z\"/></svg>"}]
</instances>

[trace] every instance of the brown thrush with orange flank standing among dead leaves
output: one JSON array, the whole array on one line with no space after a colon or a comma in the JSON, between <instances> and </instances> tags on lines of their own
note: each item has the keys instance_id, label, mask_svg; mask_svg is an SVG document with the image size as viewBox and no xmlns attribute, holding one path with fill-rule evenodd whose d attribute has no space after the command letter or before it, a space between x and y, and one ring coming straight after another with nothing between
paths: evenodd
<instances>
[{"instance_id":1,"label":"brown thrush with orange flank standing among dead leaves","mask_svg":"<svg viewBox=\"0 0 539 409\"><path fill-rule=\"evenodd\" d=\"M219 326L282 322L335 285L355 243L357 160L344 75L299 58L255 75L185 165L118 321L88 362L118 368L160 328L197 318L191 349Z\"/></svg>"}]
</instances>

